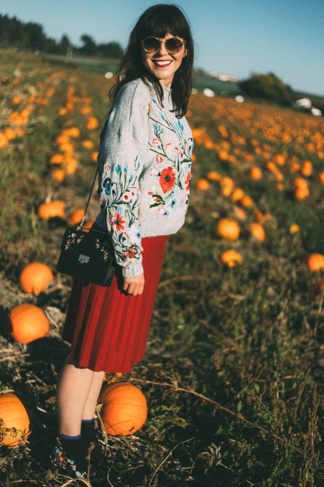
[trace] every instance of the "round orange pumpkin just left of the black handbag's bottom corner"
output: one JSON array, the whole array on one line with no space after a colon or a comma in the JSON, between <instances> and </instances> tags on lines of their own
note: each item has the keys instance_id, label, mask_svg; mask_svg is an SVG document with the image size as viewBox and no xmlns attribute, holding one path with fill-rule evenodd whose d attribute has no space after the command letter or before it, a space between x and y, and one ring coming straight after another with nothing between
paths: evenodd
<instances>
[{"instance_id":1,"label":"round orange pumpkin just left of the black handbag's bottom corner","mask_svg":"<svg viewBox=\"0 0 324 487\"><path fill-rule=\"evenodd\" d=\"M19 276L20 285L25 293L41 293L49 281L53 281L53 273L41 262L26 265Z\"/></svg>"}]
</instances>

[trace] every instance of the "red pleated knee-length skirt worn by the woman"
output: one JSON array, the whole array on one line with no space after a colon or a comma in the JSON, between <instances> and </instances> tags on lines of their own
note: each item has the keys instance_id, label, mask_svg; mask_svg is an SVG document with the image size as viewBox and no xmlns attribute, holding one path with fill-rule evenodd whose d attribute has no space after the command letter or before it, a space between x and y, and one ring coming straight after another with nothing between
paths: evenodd
<instances>
[{"instance_id":1,"label":"red pleated knee-length skirt worn by the woman","mask_svg":"<svg viewBox=\"0 0 324 487\"><path fill-rule=\"evenodd\" d=\"M145 354L149 324L168 235L142 238L144 291L121 291L118 272L110 287L74 280L62 338L70 356L94 371L131 372Z\"/></svg>"}]
</instances>

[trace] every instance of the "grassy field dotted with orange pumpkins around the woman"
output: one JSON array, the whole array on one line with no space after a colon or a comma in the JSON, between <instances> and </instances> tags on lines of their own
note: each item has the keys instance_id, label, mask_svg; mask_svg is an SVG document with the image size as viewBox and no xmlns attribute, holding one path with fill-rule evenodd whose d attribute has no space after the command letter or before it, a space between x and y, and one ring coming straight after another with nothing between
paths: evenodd
<instances>
[{"instance_id":1,"label":"grassy field dotted with orange pumpkins around the woman","mask_svg":"<svg viewBox=\"0 0 324 487\"><path fill-rule=\"evenodd\" d=\"M0 52L0 404L9 393L26 408L15 426L0 406L8 487L67 485L49 463L72 282L55 266L83 217L112 83ZM167 243L147 352L106 375L125 385L105 384L98 403L105 485L322 487L324 118L197 92L187 119L189 207ZM94 191L87 226L98 208ZM115 389L137 394L120 430Z\"/></svg>"}]
</instances>

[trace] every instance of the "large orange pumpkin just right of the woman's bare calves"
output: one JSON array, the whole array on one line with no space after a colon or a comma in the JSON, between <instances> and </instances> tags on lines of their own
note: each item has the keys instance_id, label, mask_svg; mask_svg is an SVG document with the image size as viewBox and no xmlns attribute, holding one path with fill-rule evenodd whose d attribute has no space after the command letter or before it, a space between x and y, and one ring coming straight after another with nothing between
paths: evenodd
<instances>
[{"instance_id":1,"label":"large orange pumpkin just right of the woman's bare calves","mask_svg":"<svg viewBox=\"0 0 324 487\"><path fill-rule=\"evenodd\" d=\"M100 416L109 435L131 435L146 421L145 396L129 382L104 384L99 402L103 403Z\"/></svg>"}]
</instances>

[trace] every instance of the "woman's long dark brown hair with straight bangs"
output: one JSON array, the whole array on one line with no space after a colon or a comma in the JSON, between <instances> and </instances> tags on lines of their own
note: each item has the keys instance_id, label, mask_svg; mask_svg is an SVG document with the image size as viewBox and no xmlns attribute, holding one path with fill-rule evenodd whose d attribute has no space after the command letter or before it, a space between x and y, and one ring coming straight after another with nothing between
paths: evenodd
<instances>
[{"instance_id":1,"label":"woman's long dark brown hair with straight bangs","mask_svg":"<svg viewBox=\"0 0 324 487\"><path fill-rule=\"evenodd\" d=\"M187 113L192 89L193 40L189 22L184 12L176 5L153 5L140 16L117 68L116 84L109 92L111 101L126 83L141 78L146 85L149 82L154 86L159 102L163 105L163 87L144 66L141 41L148 36L163 39L168 33L182 38L187 49L187 55L175 72L171 85L176 117L181 118Z\"/></svg>"}]
</instances>

